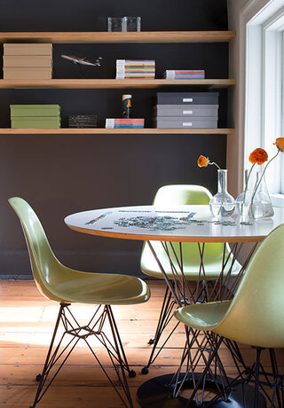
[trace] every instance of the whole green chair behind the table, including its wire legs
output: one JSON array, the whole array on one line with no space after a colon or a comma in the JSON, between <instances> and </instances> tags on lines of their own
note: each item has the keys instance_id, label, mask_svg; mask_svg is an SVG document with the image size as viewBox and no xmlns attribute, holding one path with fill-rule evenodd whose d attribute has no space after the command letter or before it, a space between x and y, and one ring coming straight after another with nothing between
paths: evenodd
<instances>
[{"instance_id":1,"label":"whole green chair behind the table, including its wire legs","mask_svg":"<svg viewBox=\"0 0 284 408\"><path fill-rule=\"evenodd\" d=\"M209 205L209 200L212 197L209 190L201 185L194 184L174 184L162 186L154 197L154 206L178 206L178 205ZM169 257L166 254L164 247L160 242L151 241L154 252L169 279L173 279L173 271L170 265ZM180 269L175 262L175 256L181 259L181 249L179 243L173 242L170 244L169 253L171 259L174 259L176 270ZM174 255L175 254L175 255ZM202 259L202 262L201 262ZM182 263L183 273L187 281L193 281L193 302L206 302L209 296L217 291L217 281L222 275L223 283L225 280L235 278L241 271L241 265L236 261L233 253L228 246L222 243L183 243L182 244ZM157 263L151 248L145 243L142 249L140 268L146 275L163 279L163 274L159 264ZM221 273L222 271L222 273ZM178 272L177 272L178 273ZM213 283L212 283L213 282ZM218 281L219 282L219 281ZM172 294L167 286L164 299L162 302L162 310L158 325L154 335L154 339L150 339L149 344L153 344L153 349L149 357L147 365L142 369L142 373L148 373L148 368L154 363L154 360L163 346L169 341L170 336L177 328L173 327L166 340L162 343L162 347L155 350L164 329L169 325L172 317L173 309L176 302L172 300Z\"/></svg>"}]
</instances>

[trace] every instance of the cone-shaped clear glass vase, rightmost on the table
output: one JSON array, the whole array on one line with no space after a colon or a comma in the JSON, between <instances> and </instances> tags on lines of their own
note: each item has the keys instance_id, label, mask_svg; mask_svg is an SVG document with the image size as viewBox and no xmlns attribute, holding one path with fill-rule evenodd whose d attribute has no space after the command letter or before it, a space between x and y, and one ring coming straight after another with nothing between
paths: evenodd
<instances>
[{"instance_id":1,"label":"cone-shaped clear glass vase, rightmost on the table","mask_svg":"<svg viewBox=\"0 0 284 408\"><path fill-rule=\"evenodd\" d=\"M261 171L256 172L256 186L251 199L250 215L256 219L274 215L272 200Z\"/></svg>"}]
</instances>

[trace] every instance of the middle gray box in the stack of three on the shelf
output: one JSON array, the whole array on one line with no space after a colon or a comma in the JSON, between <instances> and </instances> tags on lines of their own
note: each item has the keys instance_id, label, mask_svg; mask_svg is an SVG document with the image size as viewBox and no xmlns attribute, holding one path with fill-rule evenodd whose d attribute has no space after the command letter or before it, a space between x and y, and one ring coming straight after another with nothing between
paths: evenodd
<instances>
[{"instance_id":1,"label":"middle gray box in the stack of three on the shelf","mask_svg":"<svg viewBox=\"0 0 284 408\"><path fill-rule=\"evenodd\" d=\"M217 116L218 105L156 105L155 116Z\"/></svg>"}]
</instances>

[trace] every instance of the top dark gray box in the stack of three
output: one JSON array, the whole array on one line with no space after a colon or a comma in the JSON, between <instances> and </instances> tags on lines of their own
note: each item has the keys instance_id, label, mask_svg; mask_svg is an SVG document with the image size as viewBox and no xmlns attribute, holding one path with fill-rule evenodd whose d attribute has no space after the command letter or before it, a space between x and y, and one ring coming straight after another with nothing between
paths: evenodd
<instances>
[{"instance_id":1,"label":"top dark gray box in the stack of three","mask_svg":"<svg viewBox=\"0 0 284 408\"><path fill-rule=\"evenodd\" d=\"M217 105L218 92L157 92L157 105Z\"/></svg>"}]
</instances>

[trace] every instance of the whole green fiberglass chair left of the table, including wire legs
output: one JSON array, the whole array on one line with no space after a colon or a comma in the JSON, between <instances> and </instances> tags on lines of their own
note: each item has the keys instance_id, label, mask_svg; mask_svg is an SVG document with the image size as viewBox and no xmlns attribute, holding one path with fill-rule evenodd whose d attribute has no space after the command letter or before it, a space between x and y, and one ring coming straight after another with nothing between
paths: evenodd
<instances>
[{"instance_id":1,"label":"whole green fiberglass chair left of the table, including wire legs","mask_svg":"<svg viewBox=\"0 0 284 408\"><path fill-rule=\"evenodd\" d=\"M88 273L67 268L59 263L53 254L43 226L28 203L19 197L10 199L9 203L20 218L36 286L43 296L59 302L60 305L59 316L43 373L36 377L39 385L32 408L42 399L45 391L59 373L59 369L80 340L86 342L92 355L120 397L120 404L132 407L125 373L129 373L130 376L135 376L135 373L130 370L125 357L111 305L146 302L150 297L148 286L141 279L132 276ZM71 303L90 303L97 306L92 318L83 326L79 326L70 310ZM112 335L106 336L106 331L104 331L106 321L109 323ZM58 332L60 322L64 326L63 334ZM89 342L91 335L98 339L100 345L106 347L107 354L114 365L114 373L117 374L118 380L115 383L99 362L99 358ZM58 341L57 346L55 346L56 341ZM51 371L52 367L53 370ZM49 381L47 381L48 378Z\"/></svg>"}]
</instances>

